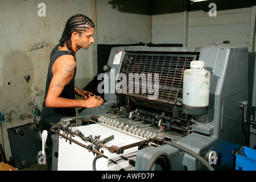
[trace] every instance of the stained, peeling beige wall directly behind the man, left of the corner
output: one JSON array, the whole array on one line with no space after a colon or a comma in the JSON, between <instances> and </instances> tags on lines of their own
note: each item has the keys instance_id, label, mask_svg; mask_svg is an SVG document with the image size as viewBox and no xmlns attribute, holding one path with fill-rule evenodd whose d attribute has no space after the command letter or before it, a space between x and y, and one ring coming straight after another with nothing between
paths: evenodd
<instances>
[{"instance_id":1,"label":"stained, peeling beige wall directly behind the man, left of the corner","mask_svg":"<svg viewBox=\"0 0 256 182\"><path fill-rule=\"evenodd\" d=\"M46 5L46 16L38 15L40 2ZM74 14L89 16L89 8L89 0L0 1L0 109L7 159L7 129L40 121L49 54L65 22ZM91 49L77 53L77 65L82 69L77 86L82 88L93 77Z\"/></svg>"}]
</instances>

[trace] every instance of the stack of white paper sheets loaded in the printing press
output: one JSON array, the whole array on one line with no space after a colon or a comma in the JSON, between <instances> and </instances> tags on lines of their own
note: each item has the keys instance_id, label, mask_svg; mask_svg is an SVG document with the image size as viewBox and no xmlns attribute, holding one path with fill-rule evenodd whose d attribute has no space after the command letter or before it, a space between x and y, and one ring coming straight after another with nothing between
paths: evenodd
<instances>
[{"instance_id":1,"label":"stack of white paper sheets loaded in the printing press","mask_svg":"<svg viewBox=\"0 0 256 182\"><path fill-rule=\"evenodd\" d=\"M134 138L133 136L121 133L117 130L111 129L106 126L93 124L87 126L80 126L73 128L72 130L79 130L85 137L92 135L100 135L100 140L114 135L114 140L105 143L106 146L126 146L142 141L142 139ZM80 137L72 137L80 143L88 146L90 142L84 142ZM106 148L100 148L100 152L105 157L97 159L96 169L97 171L117 171L121 169L133 170L134 166L130 165L135 162L138 147L132 147L124 150L123 154L115 154L108 151ZM89 152L86 148L79 146L76 143L69 144L69 140L65 138L59 139L59 157L58 157L58 170L72 171L72 170L93 170L93 159L96 155L93 152Z\"/></svg>"}]
</instances>

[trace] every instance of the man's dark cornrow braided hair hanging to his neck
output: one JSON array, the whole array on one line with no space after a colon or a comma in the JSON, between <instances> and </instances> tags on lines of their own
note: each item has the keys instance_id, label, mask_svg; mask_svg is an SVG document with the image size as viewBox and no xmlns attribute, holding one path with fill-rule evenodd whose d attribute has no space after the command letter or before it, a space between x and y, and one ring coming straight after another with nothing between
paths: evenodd
<instances>
[{"instance_id":1,"label":"man's dark cornrow braided hair hanging to his neck","mask_svg":"<svg viewBox=\"0 0 256 182\"><path fill-rule=\"evenodd\" d=\"M66 44L68 50L72 53L73 56L75 56L75 52L72 49L71 43L72 33L77 32L81 34L82 31L86 32L89 28L92 27L94 27L94 23L87 16L82 14L71 16L71 18L68 19L61 39L59 40L60 46L63 47L65 46L64 44Z\"/></svg>"}]
</instances>

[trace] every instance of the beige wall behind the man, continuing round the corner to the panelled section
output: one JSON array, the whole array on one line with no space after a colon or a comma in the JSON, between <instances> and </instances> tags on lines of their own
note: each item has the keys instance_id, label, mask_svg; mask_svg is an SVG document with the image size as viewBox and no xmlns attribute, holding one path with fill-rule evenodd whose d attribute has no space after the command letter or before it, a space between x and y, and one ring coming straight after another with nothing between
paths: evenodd
<instances>
[{"instance_id":1,"label":"beige wall behind the man, continuing round the corner to the panelled section","mask_svg":"<svg viewBox=\"0 0 256 182\"><path fill-rule=\"evenodd\" d=\"M138 12L143 7L143 14L122 11L120 2L133 9L131 3L111 0L0 1L0 143L7 159L11 156L7 129L40 122L49 55L70 16L85 14L96 24L93 46L76 55L79 88L85 88L97 76L97 42L147 42L145 1L137 6ZM38 15L42 13L39 3L46 5L46 16Z\"/></svg>"}]
</instances>

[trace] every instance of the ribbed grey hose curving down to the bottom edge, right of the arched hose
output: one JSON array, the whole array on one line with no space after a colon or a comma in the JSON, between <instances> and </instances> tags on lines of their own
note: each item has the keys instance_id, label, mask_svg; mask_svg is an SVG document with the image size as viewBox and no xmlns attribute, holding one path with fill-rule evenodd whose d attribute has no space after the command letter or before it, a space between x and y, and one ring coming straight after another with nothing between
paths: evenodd
<instances>
[{"instance_id":1,"label":"ribbed grey hose curving down to the bottom edge, right of the arched hose","mask_svg":"<svg viewBox=\"0 0 256 182\"><path fill-rule=\"evenodd\" d=\"M214 168L212 166L210 166L210 164L207 162L207 160L205 160L199 154L196 154L196 152L190 150L189 148L181 146L180 144L177 144L174 142L170 142L170 141L165 141L165 143L170 144L170 146L175 147L175 148L193 156L194 158L199 160L202 164L204 164L204 166L207 167L209 169L209 171L215 171Z\"/></svg>"}]
</instances>

